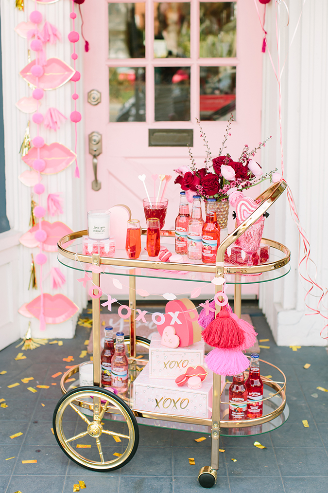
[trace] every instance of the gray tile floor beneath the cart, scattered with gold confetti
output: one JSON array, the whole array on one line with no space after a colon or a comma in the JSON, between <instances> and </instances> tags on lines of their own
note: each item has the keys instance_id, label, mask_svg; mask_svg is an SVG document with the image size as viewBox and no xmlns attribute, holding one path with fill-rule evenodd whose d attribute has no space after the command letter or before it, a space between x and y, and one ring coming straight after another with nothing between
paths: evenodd
<instances>
[{"instance_id":1,"label":"gray tile floor beneath the cart, scattered with gold confetti","mask_svg":"<svg viewBox=\"0 0 328 493\"><path fill-rule=\"evenodd\" d=\"M316 387L328 387L328 355L325 348L277 347L255 302L243 303L243 313L251 314L259 339L270 346L261 358L279 366L288 378L288 422L276 431L254 437L223 437L220 468L215 491L221 493L327 493L328 491L328 393ZM89 317L91 315L88 315ZM85 315L83 316L85 317ZM70 461L52 434L52 414L61 397L60 377L65 371L63 357L79 358L89 330L79 327L73 340L62 347L46 345L24 352L26 359L15 361L19 348L13 344L0 352L0 493L68 493L73 484L84 480L92 493L194 493L202 491L197 483L201 466L210 463L210 440L197 443L196 434L140 426L138 450L131 462L110 473L96 473ZM84 359L89 359L87 356ZM305 363L311 363L307 370ZM33 377L29 384L21 379ZM20 385L8 388L15 382ZM51 383L57 383L52 386ZM50 385L33 393L27 387ZM318 397L312 397L317 394ZM44 407L41 406L44 404ZM302 420L307 420L304 428ZM68 423L69 424L69 423ZM75 423L72 423L72 426ZM22 432L17 438L10 435ZM205 435L206 436L206 435ZM264 450L253 446L258 439ZM5 460L6 458L10 460ZM196 465L188 458L194 457ZM37 463L22 464L22 460ZM231 461L235 458L236 462Z\"/></svg>"}]
</instances>

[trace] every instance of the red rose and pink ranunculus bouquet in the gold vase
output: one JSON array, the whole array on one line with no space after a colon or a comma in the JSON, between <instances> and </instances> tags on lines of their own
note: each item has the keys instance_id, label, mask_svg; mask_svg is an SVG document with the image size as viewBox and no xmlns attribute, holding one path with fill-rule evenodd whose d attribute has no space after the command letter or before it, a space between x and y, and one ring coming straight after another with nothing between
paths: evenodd
<instances>
[{"instance_id":1,"label":"red rose and pink ranunculus bouquet in the gold vase","mask_svg":"<svg viewBox=\"0 0 328 493\"><path fill-rule=\"evenodd\" d=\"M189 202L193 201L193 195L197 193L203 199L215 198L218 202L226 202L229 199L230 204L234 205L243 195L242 190L257 185L266 179L270 179L271 182L280 180L281 176L276 173L277 169L263 174L261 166L253 159L256 152L265 147L271 136L260 142L254 149L250 149L245 144L237 161L233 161L228 152L223 155L227 147L226 143L231 135L230 127L232 121L231 114L219 155L212 159L206 136L197 119L200 137L202 137L206 149L205 166L197 169L191 148L188 146L192 162L191 166L181 166L174 170L178 174L174 183L178 183L181 189L186 191Z\"/></svg>"}]
</instances>

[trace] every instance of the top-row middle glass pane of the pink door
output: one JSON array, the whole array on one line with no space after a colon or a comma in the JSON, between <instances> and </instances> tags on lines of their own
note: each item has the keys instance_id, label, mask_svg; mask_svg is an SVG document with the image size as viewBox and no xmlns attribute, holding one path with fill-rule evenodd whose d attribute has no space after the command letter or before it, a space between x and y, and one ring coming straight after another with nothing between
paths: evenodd
<instances>
[{"instance_id":1,"label":"top-row middle glass pane of the pink door","mask_svg":"<svg viewBox=\"0 0 328 493\"><path fill-rule=\"evenodd\" d=\"M154 3L154 58L190 57L190 3Z\"/></svg>"}]
</instances>

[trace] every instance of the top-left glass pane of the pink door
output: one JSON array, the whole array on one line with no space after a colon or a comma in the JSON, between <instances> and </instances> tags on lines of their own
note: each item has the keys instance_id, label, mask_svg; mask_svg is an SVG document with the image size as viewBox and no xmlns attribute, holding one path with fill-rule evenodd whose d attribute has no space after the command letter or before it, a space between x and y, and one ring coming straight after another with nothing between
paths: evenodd
<instances>
[{"instance_id":1,"label":"top-left glass pane of the pink door","mask_svg":"<svg viewBox=\"0 0 328 493\"><path fill-rule=\"evenodd\" d=\"M145 4L108 3L108 58L145 57Z\"/></svg>"}]
</instances>

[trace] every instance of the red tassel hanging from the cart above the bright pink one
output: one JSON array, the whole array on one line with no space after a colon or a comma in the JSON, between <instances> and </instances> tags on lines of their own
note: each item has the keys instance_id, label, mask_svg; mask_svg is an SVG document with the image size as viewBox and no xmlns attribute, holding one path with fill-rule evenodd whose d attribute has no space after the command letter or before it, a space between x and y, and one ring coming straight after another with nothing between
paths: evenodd
<instances>
[{"instance_id":1,"label":"red tassel hanging from the cart above the bright pink one","mask_svg":"<svg viewBox=\"0 0 328 493\"><path fill-rule=\"evenodd\" d=\"M244 331L227 310L221 310L201 336L212 348L234 349L245 343Z\"/></svg>"}]
</instances>

